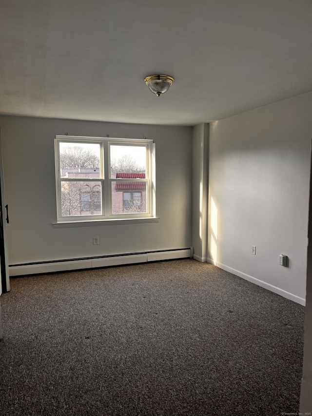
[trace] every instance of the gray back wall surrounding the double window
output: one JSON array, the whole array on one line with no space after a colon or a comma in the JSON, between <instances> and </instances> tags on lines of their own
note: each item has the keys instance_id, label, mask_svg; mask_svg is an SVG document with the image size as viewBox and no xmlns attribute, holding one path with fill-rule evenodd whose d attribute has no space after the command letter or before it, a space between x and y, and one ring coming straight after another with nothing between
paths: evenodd
<instances>
[{"instance_id":1,"label":"gray back wall surrounding the double window","mask_svg":"<svg viewBox=\"0 0 312 416\"><path fill-rule=\"evenodd\" d=\"M192 128L0 117L9 263L190 247ZM158 223L53 228L56 135L154 139ZM92 237L100 244L93 245Z\"/></svg>"}]
</instances>

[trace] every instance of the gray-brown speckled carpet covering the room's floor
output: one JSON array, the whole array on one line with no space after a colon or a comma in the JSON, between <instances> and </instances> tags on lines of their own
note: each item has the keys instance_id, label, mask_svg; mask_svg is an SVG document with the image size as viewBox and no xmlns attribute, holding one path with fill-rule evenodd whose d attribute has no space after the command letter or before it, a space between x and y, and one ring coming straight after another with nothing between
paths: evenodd
<instances>
[{"instance_id":1,"label":"gray-brown speckled carpet covering the room's floor","mask_svg":"<svg viewBox=\"0 0 312 416\"><path fill-rule=\"evenodd\" d=\"M11 279L0 415L298 412L304 307L192 259Z\"/></svg>"}]
</instances>

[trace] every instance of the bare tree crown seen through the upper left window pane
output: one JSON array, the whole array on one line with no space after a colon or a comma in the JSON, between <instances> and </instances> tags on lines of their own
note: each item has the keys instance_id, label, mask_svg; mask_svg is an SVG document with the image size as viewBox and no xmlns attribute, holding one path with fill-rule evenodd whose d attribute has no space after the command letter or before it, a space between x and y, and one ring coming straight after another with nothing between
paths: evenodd
<instances>
[{"instance_id":1,"label":"bare tree crown seen through the upper left window pane","mask_svg":"<svg viewBox=\"0 0 312 416\"><path fill-rule=\"evenodd\" d=\"M60 150L60 167L65 168L99 168L99 156L83 146L67 146Z\"/></svg>"}]
</instances>

